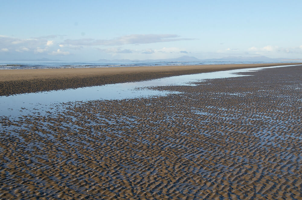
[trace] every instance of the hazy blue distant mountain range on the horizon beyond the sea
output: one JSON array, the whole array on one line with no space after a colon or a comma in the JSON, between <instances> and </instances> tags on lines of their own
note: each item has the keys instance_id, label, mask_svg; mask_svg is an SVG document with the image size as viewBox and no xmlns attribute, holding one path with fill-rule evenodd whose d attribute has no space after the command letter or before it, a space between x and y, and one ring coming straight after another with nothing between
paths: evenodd
<instances>
[{"instance_id":1,"label":"hazy blue distant mountain range on the horizon beyond the sea","mask_svg":"<svg viewBox=\"0 0 302 200\"><path fill-rule=\"evenodd\" d=\"M266 56L255 56L255 57L242 57L242 56L229 56L223 58L211 58L211 59L204 59L200 60L198 58L192 56L182 56L178 58L168 58L168 59L156 59L156 60L129 60L129 59L115 59L115 60L107 60L107 59L100 59L97 62L133 62L133 61L280 61L280 60L302 60L302 58L291 59L291 58L269 58Z\"/></svg>"}]
</instances>

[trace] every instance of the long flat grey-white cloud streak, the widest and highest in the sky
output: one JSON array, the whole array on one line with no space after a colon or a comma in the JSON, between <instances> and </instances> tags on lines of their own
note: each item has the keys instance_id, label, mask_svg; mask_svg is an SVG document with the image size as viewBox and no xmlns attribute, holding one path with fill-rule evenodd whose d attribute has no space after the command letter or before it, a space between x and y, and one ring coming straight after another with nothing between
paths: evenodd
<instances>
[{"instance_id":1,"label":"long flat grey-white cloud streak, the widest and highest in the sky","mask_svg":"<svg viewBox=\"0 0 302 200\"><path fill-rule=\"evenodd\" d=\"M71 40L67 39L63 43L63 45L106 45L106 46L114 46L114 45L127 45L127 44L150 44L156 42L172 42L172 41L181 41L181 40L194 40L192 38L179 38L178 35L175 34L132 34L132 35L124 35L119 38L109 39L109 40L97 40L97 39L76 39Z\"/></svg>"}]
</instances>

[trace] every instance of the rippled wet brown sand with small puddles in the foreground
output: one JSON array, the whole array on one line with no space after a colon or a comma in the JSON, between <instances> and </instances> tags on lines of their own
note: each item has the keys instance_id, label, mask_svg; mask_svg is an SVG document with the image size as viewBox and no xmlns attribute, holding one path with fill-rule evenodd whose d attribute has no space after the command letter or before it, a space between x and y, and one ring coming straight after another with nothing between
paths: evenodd
<instances>
[{"instance_id":1,"label":"rippled wet brown sand with small puddles in the foreground","mask_svg":"<svg viewBox=\"0 0 302 200\"><path fill-rule=\"evenodd\" d=\"M0 199L301 199L302 66L2 116Z\"/></svg>"}]
</instances>

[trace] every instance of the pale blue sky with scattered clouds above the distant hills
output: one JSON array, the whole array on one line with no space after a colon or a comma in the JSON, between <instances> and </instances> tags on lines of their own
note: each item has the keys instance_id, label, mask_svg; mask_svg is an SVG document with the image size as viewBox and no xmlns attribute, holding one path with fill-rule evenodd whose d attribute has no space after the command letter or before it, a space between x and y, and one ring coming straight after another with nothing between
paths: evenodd
<instances>
[{"instance_id":1,"label":"pale blue sky with scattered clouds above the distant hills","mask_svg":"<svg viewBox=\"0 0 302 200\"><path fill-rule=\"evenodd\" d=\"M302 58L302 1L14 1L0 60Z\"/></svg>"}]
</instances>

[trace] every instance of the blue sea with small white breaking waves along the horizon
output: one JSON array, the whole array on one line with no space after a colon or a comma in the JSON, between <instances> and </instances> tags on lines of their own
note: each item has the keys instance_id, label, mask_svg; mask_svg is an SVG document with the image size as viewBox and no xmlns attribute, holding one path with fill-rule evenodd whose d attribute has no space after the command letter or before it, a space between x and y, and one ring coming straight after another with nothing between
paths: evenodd
<instances>
[{"instance_id":1,"label":"blue sea with small white breaking waves along the horizon","mask_svg":"<svg viewBox=\"0 0 302 200\"><path fill-rule=\"evenodd\" d=\"M257 64L296 63L298 60L284 61L106 61L106 62L41 62L41 61L0 61L0 69L53 69L128 66L169 66L169 65L217 65L217 64Z\"/></svg>"}]
</instances>

